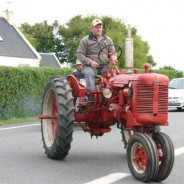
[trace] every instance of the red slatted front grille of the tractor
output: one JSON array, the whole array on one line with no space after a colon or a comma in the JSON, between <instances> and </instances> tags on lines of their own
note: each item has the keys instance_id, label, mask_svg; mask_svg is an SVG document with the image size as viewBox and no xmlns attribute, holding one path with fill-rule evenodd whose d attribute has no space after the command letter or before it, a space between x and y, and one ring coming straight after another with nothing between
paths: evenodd
<instances>
[{"instance_id":1,"label":"red slatted front grille of the tractor","mask_svg":"<svg viewBox=\"0 0 184 184\"><path fill-rule=\"evenodd\" d=\"M158 103L157 103L158 102ZM165 114L168 112L168 86L159 85L158 90L154 90L152 84L137 85L137 112L138 113L157 113ZM157 106L157 107L155 107Z\"/></svg>"}]
</instances>

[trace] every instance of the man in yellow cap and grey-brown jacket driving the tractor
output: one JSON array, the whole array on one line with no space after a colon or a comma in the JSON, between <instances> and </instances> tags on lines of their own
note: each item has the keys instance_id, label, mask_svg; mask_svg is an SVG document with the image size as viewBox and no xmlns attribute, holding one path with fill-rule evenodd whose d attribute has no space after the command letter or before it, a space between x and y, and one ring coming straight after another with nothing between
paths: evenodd
<instances>
[{"instance_id":1,"label":"man in yellow cap and grey-brown jacket driving the tractor","mask_svg":"<svg viewBox=\"0 0 184 184\"><path fill-rule=\"evenodd\" d=\"M108 47L106 53L101 53L103 61L98 58L99 51L106 45ZM110 37L103 34L103 23L100 19L94 19L91 23L91 33L81 39L78 49L77 58L83 64L83 73L86 78L87 95L95 90L94 78L96 75L103 75L106 66L110 61L116 60L116 55L108 57L108 53L114 53L115 48Z\"/></svg>"}]
</instances>

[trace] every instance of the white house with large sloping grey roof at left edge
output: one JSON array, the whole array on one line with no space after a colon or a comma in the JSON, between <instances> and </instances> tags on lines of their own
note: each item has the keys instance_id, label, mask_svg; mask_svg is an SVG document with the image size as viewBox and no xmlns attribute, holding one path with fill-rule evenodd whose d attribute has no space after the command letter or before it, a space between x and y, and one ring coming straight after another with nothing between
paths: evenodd
<instances>
[{"instance_id":1,"label":"white house with large sloping grey roof at left edge","mask_svg":"<svg viewBox=\"0 0 184 184\"><path fill-rule=\"evenodd\" d=\"M0 66L39 67L41 56L21 31L0 17Z\"/></svg>"}]
</instances>

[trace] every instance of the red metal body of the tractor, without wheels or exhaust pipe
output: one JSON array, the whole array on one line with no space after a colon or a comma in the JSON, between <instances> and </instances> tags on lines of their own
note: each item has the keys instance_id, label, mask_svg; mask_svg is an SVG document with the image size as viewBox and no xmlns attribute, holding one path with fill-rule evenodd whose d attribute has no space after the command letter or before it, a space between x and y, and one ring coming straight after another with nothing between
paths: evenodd
<instances>
[{"instance_id":1,"label":"red metal body of the tractor, without wheels or exhaust pipe","mask_svg":"<svg viewBox=\"0 0 184 184\"><path fill-rule=\"evenodd\" d=\"M78 106L75 121L84 131L92 134L109 132L110 126L118 123L125 128L140 129L156 125L168 125L168 77L161 74L108 73L97 77L99 91L92 92L93 100L85 99L85 86L73 76L67 77L74 104ZM112 97L103 96L103 90L110 89ZM79 103L77 102L79 98Z\"/></svg>"}]
</instances>

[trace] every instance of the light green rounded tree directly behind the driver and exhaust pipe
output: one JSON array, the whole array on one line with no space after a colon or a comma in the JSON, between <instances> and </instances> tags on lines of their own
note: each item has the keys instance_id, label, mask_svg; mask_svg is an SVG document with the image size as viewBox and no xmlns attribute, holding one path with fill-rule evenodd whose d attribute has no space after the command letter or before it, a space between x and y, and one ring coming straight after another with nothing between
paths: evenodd
<instances>
[{"instance_id":1,"label":"light green rounded tree directly behind the driver and exhaust pipe","mask_svg":"<svg viewBox=\"0 0 184 184\"><path fill-rule=\"evenodd\" d=\"M66 62L74 63L76 61L76 50L82 37L88 35L91 31L91 21L97 16L88 16L82 18L81 15L73 17L66 25L59 27L59 34L64 43L64 52L68 54L67 58L63 58ZM113 42L120 45L123 49L123 54L119 59L119 66L121 68L125 65L125 38L127 37L127 28L119 19L111 17L100 17L104 24L104 33L110 36ZM148 43L142 41L138 36L137 30L132 28L132 37L134 39L134 67L142 67L143 63L148 62L152 66L155 65L153 57L148 54Z\"/></svg>"}]
</instances>

